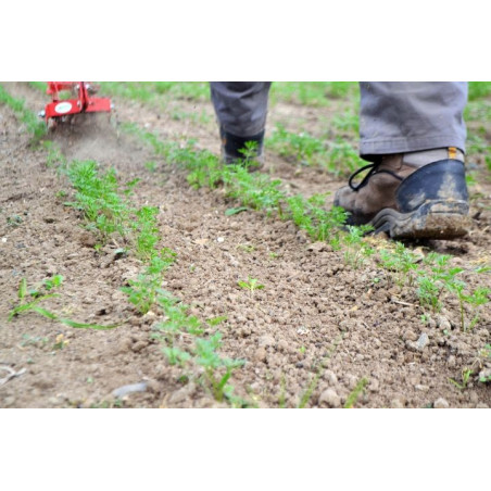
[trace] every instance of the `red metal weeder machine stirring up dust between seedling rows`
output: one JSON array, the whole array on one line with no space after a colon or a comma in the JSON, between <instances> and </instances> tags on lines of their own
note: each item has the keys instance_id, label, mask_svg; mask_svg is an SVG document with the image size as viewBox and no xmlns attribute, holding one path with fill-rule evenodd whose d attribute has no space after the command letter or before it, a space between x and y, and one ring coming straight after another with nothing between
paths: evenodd
<instances>
[{"instance_id":1,"label":"red metal weeder machine stirring up dust between seedling rows","mask_svg":"<svg viewBox=\"0 0 491 491\"><path fill-rule=\"evenodd\" d=\"M64 116L79 113L111 112L111 100L93 97L99 87L88 81L48 81L46 93L51 96L52 102L46 105L42 117L49 124ZM60 92L70 91L73 99L60 99Z\"/></svg>"}]
</instances>

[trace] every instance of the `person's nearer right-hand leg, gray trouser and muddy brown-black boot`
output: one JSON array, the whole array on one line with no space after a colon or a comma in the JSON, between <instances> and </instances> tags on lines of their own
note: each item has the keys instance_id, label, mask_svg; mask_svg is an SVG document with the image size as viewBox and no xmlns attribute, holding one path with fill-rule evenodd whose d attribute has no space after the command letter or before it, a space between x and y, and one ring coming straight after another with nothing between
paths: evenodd
<instances>
[{"instance_id":1,"label":"person's nearer right-hand leg, gray trouser and muddy brown-black boot","mask_svg":"<svg viewBox=\"0 0 491 491\"><path fill-rule=\"evenodd\" d=\"M351 213L351 224L393 238L465 235L467 84L370 81L361 92L360 153L374 164L361 182L356 173L350 178L335 205Z\"/></svg>"}]
</instances>

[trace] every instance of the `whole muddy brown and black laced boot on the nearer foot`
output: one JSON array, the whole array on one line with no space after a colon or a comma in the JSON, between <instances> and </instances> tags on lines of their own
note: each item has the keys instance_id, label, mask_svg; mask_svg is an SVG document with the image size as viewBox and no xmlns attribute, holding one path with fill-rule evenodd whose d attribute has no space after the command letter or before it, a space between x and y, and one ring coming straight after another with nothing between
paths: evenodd
<instances>
[{"instance_id":1,"label":"whole muddy brown and black laced boot on the nearer foot","mask_svg":"<svg viewBox=\"0 0 491 491\"><path fill-rule=\"evenodd\" d=\"M383 155L354 173L335 205L350 212L349 225L369 224L392 239L454 239L467 234L468 193L464 155L437 149ZM358 185L353 178L369 169Z\"/></svg>"}]
</instances>

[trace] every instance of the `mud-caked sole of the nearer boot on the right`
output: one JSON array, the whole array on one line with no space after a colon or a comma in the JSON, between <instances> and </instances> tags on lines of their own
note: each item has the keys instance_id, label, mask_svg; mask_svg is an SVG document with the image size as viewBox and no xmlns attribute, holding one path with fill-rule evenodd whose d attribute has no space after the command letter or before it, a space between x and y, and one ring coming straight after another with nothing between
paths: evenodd
<instances>
[{"instance_id":1,"label":"mud-caked sole of the nearer boot on the right","mask_svg":"<svg viewBox=\"0 0 491 491\"><path fill-rule=\"evenodd\" d=\"M468 203L430 201L411 213L381 210L370 225L374 234L387 232L391 239L457 239L470 228Z\"/></svg>"}]
</instances>

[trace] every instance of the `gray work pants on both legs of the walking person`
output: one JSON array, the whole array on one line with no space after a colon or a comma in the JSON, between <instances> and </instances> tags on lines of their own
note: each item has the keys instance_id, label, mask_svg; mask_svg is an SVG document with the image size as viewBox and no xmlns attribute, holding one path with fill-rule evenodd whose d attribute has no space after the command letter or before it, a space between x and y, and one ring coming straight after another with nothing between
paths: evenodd
<instances>
[{"instance_id":1,"label":"gray work pants on both legs of the walking person","mask_svg":"<svg viewBox=\"0 0 491 491\"><path fill-rule=\"evenodd\" d=\"M266 125L267 81L212 81L221 126L236 136L257 135ZM465 152L465 81L361 81L360 154L456 147Z\"/></svg>"}]
</instances>

